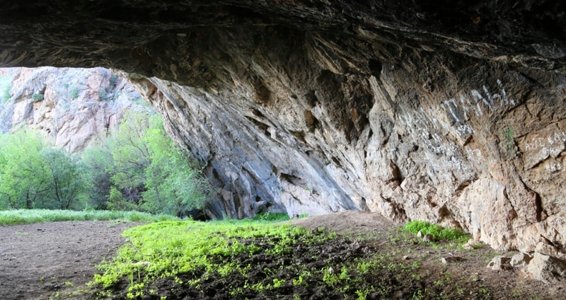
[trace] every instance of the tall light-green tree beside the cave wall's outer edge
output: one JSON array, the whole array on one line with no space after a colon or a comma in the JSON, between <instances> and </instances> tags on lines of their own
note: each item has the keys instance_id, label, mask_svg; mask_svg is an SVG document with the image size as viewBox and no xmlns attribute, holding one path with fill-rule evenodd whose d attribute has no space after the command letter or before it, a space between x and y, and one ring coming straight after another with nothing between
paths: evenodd
<instances>
[{"instance_id":1,"label":"tall light-green tree beside the cave wall's outer edge","mask_svg":"<svg viewBox=\"0 0 566 300\"><path fill-rule=\"evenodd\" d=\"M145 212L178 217L202 209L209 197L208 181L167 136L161 118L130 113L125 119L109 142L111 180L122 200ZM122 200L110 202L124 204Z\"/></svg>"}]
</instances>

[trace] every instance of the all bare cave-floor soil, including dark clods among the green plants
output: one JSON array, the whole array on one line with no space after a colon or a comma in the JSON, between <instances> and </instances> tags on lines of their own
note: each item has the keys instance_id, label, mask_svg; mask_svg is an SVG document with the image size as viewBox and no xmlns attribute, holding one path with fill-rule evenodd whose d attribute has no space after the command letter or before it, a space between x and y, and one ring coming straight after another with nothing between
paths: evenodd
<instances>
[{"instance_id":1,"label":"all bare cave-floor soil, including dark clods among the green plants","mask_svg":"<svg viewBox=\"0 0 566 300\"><path fill-rule=\"evenodd\" d=\"M566 299L566 287L543 284L530 279L520 270L495 272L485 267L496 255L510 256L514 253L497 253L487 246L458 250L417 243L416 239L400 231L398 224L378 214L340 212L289 222L311 229L324 227L347 236L350 242L339 239L342 245L330 243L318 249L324 253L335 250L328 256L337 261L345 255L364 255L366 251L357 251L363 244L373 252L392 253L397 260L422 265L420 279L403 277L395 272L375 275L376 284L386 282L392 287L388 291L389 299L434 299L430 296L415 298L415 291L422 289L428 289L432 294L442 294L443 299ZM93 266L104 258L112 258L117 247L125 243L121 237L122 231L136 225L81 221L0 227L0 299L90 299L91 292L85 284L96 273ZM352 243L357 237L361 237L358 238L361 242ZM280 260L289 263L302 260L296 254L301 251L295 251L294 256ZM309 256L305 255L305 258ZM443 264L441 258L449 256L458 256L463 260ZM250 263L250 258L241 259L242 263ZM261 256L253 259L257 260L253 263L263 266L275 263L262 261ZM308 261L301 263L316 264ZM163 290L177 289L175 296L167 299L231 299L221 294L226 284L246 281L253 282L253 278L231 278L225 282L206 280L201 283L202 290L208 291L205 294L189 289L181 291L171 282L156 282L156 285ZM249 298L293 299L293 294L300 294L301 299L329 299L329 296L340 299L342 296L325 294L324 287L320 286L304 291L293 291L289 287L289 294L250 295ZM377 299L379 295L369 294L368 298Z\"/></svg>"}]
</instances>

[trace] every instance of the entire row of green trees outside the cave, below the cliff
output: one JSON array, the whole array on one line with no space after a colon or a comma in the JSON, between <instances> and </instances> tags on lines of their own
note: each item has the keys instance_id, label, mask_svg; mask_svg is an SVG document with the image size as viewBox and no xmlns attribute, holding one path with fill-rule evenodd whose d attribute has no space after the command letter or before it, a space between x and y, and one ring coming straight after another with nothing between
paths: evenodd
<instances>
[{"instance_id":1,"label":"entire row of green trees outside the cave, below the cliff","mask_svg":"<svg viewBox=\"0 0 566 300\"><path fill-rule=\"evenodd\" d=\"M33 129L0 134L0 209L112 209L187 215L209 197L207 179L156 114L126 115L79 157Z\"/></svg>"}]
</instances>

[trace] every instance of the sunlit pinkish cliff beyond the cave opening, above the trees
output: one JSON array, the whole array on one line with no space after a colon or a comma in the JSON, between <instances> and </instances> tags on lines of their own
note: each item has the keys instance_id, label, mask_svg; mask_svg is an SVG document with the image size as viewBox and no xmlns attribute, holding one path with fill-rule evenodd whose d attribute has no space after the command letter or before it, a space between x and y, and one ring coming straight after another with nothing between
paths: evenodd
<instances>
[{"instance_id":1,"label":"sunlit pinkish cliff beyond the cave opening, above the trees","mask_svg":"<svg viewBox=\"0 0 566 300\"><path fill-rule=\"evenodd\" d=\"M0 132L27 124L56 146L83 150L105 138L141 96L108 69L41 67L0 70Z\"/></svg>"}]
</instances>

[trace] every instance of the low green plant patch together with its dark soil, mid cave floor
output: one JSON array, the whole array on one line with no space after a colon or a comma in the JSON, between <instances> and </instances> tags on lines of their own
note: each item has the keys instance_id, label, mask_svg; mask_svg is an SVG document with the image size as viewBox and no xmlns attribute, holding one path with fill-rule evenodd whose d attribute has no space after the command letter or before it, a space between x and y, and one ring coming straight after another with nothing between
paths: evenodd
<instances>
[{"instance_id":1,"label":"low green plant patch together with its dark soil, mid cave floor","mask_svg":"<svg viewBox=\"0 0 566 300\"><path fill-rule=\"evenodd\" d=\"M368 247L322 228L273 223L282 219L164 221L127 229L129 242L98 266L103 273L91 287L100 297L119 299L308 299L313 289L343 298L374 291L376 270L407 274L418 268L370 255Z\"/></svg>"}]
</instances>

